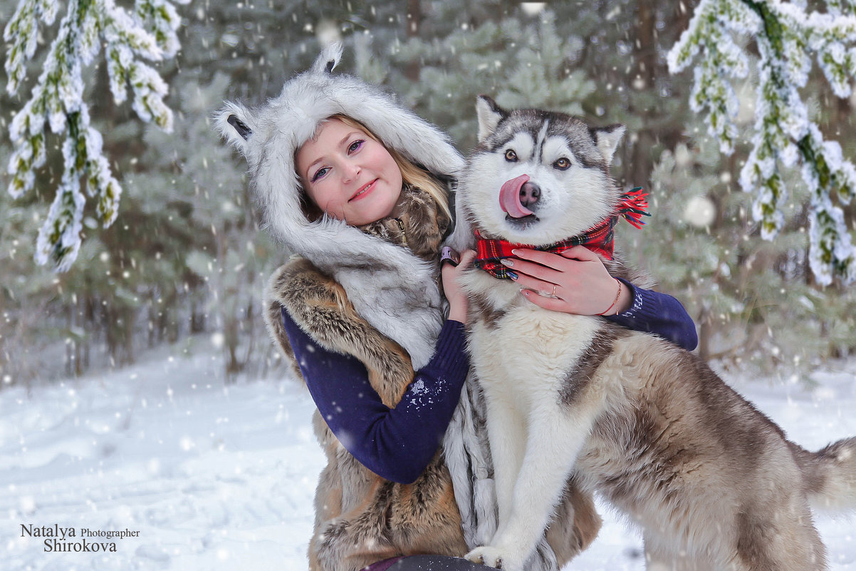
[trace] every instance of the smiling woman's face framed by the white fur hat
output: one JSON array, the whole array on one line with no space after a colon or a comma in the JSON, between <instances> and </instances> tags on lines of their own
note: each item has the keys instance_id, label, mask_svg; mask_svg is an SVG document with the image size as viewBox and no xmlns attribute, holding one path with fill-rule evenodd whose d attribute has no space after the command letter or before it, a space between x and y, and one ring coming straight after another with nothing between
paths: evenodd
<instances>
[{"instance_id":1,"label":"smiling woman's face framed by the white fur hat","mask_svg":"<svg viewBox=\"0 0 856 571\"><path fill-rule=\"evenodd\" d=\"M401 195L401 169L386 147L339 119L323 123L296 159L306 194L349 225L389 216Z\"/></svg>"}]
</instances>

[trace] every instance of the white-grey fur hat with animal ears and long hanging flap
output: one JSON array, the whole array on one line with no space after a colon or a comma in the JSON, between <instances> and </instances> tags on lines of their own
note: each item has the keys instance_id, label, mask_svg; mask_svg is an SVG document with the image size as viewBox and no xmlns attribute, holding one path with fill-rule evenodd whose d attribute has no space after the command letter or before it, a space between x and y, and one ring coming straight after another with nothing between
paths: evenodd
<instances>
[{"instance_id":1,"label":"white-grey fur hat with animal ears and long hanging flap","mask_svg":"<svg viewBox=\"0 0 856 571\"><path fill-rule=\"evenodd\" d=\"M441 179L455 179L463 159L447 135L389 93L353 75L334 75L341 57L341 45L330 45L312 68L286 81L275 99L252 109L227 102L217 112L215 124L247 159L263 225L291 252L332 275L361 315L401 343L414 365L423 364L431 357L433 344L417 348L424 340L400 337L413 337L419 322L425 324L424 331L439 331L442 302L436 267L341 220L307 219L294 153L324 119L342 114L363 123L385 147ZM384 291L388 293L383 295ZM408 324L409 332L399 330L410 318L417 323Z\"/></svg>"}]
</instances>

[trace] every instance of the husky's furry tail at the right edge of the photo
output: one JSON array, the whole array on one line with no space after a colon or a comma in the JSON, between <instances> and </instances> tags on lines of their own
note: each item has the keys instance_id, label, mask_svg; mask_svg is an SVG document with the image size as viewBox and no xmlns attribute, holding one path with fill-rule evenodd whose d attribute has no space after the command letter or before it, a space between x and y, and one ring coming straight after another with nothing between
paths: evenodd
<instances>
[{"instance_id":1,"label":"husky's furry tail at the right edge of the photo","mask_svg":"<svg viewBox=\"0 0 856 571\"><path fill-rule=\"evenodd\" d=\"M809 452L791 442L803 472L811 507L823 511L856 510L856 437Z\"/></svg>"}]
</instances>

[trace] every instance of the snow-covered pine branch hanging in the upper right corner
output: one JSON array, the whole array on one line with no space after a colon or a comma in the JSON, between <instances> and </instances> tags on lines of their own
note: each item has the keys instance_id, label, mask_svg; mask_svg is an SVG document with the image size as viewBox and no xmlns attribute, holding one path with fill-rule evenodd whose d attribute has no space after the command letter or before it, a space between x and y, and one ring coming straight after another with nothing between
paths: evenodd
<instances>
[{"instance_id":1,"label":"snow-covered pine branch hanging in the upper right corner","mask_svg":"<svg viewBox=\"0 0 856 571\"><path fill-rule=\"evenodd\" d=\"M681 39L669 51L669 70L679 73L700 57L690 105L706 111L710 134L722 153L734 151L738 102L732 78L746 76L746 55L736 53L734 35L758 45L758 91L752 150L740 186L755 195L752 207L761 235L773 239L784 225L788 198L779 166L802 165L811 191L809 261L818 283L856 279L856 248L841 204L856 192L856 170L835 141L824 141L808 118L800 87L812 58L833 92L847 97L856 76L856 3L828 0L827 13L806 12L805 2L702 0ZM702 55L699 56L699 53Z\"/></svg>"}]
</instances>

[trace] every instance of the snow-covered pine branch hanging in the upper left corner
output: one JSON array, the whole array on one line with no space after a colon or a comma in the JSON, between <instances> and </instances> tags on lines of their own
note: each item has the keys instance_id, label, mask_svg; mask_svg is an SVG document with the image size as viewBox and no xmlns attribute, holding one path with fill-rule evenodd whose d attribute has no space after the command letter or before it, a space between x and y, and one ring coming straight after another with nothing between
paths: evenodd
<instances>
[{"instance_id":1,"label":"snow-covered pine branch hanging in the upper left corner","mask_svg":"<svg viewBox=\"0 0 856 571\"><path fill-rule=\"evenodd\" d=\"M175 55L181 18L174 4L188 2L136 0L133 13L129 13L113 0L68 0L42 74L9 126L14 146L9 159L9 194L14 197L33 189L36 171L45 164L45 122L53 133L64 137L62 179L37 240L35 257L39 264L51 261L57 271L64 271L74 262L80 250L86 195L95 199L98 219L105 228L118 213L122 187L104 157L101 134L90 124L82 69L104 46L110 91L116 103L127 99L130 87L140 119L154 121L169 131L172 112L163 103L167 85L141 60L158 62ZM59 4L56 0L18 3L3 33L9 44L6 72L10 94L17 93L27 79L27 61L35 55L40 22L51 26Z\"/></svg>"}]
</instances>

